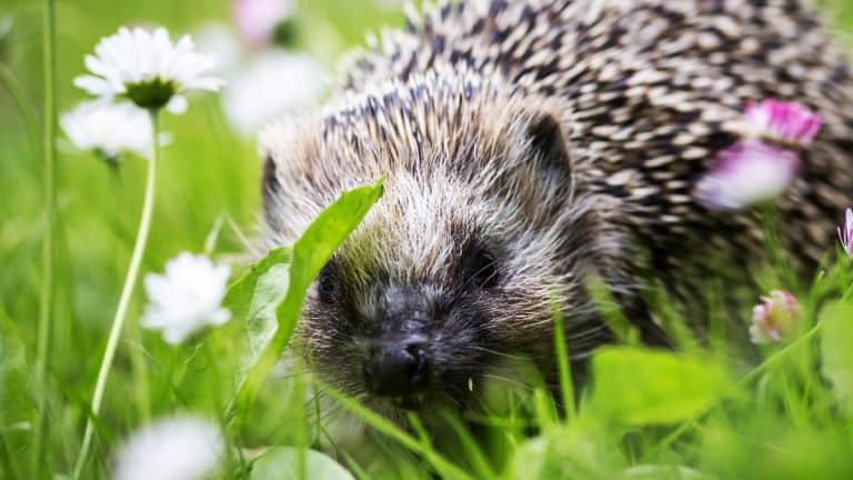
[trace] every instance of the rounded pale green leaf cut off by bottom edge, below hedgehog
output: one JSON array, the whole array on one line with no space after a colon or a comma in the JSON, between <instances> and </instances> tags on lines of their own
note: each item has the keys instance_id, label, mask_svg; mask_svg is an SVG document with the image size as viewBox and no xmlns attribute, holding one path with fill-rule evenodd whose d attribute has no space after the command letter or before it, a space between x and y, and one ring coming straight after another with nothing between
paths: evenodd
<instances>
[{"instance_id":1,"label":"rounded pale green leaf cut off by bottom edge, below hedgehog","mask_svg":"<svg viewBox=\"0 0 853 480\"><path fill-rule=\"evenodd\" d=\"M300 474L304 462L304 476ZM291 447L273 447L252 463L251 480L288 480L310 478L318 480L355 480L330 457L314 450Z\"/></svg>"}]
</instances>

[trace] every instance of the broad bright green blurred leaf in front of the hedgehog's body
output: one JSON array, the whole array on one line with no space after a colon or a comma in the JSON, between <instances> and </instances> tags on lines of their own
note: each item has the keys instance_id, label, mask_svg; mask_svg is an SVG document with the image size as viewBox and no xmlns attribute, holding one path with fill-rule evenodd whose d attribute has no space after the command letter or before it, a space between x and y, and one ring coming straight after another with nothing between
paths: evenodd
<instances>
[{"instance_id":1,"label":"broad bright green blurred leaf in front of the hedgehog's body","mask_svg":"<svg viewBox=\"0 0 853 480\"><path fill-rule=\"evenodd\" d=\"M731 389L709 360L634 347L601 349L592 372L593 408L631 426L692 419Z\"/></svg>"}]
</instances>

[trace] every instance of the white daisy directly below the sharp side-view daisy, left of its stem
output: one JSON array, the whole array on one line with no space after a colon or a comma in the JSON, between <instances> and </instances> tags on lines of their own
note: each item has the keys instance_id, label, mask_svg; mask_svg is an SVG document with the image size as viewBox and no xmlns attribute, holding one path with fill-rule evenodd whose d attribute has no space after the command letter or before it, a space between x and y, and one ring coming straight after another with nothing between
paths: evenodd
<instances>
[{"instance_id":1,"label":"white daisy directly below the sharp side-view daisy, left of its stem","mask_svg":"<svg viewBox=\"0 0 853 480\"><path fill-rule=\"evenodd\" d=\"M63 113L59 122L74 147L109 161L129 152L151 156L151 118L131 103L82 102Z\"/></svg>"}]
</instances>

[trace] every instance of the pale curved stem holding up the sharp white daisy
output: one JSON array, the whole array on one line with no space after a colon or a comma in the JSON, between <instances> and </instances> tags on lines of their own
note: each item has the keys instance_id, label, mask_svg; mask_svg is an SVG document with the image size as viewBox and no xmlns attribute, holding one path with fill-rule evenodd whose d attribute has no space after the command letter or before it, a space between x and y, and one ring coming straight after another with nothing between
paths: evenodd
<instances>
[{"instance_id":1,"label":"pale curved stem holding up the sharp white daisy","mask_svg":"<svg viewBox=\"0 0 853 480\"><path fill-rule=\"evenodd\" d=\"M148 162L148 178L145 180L145 197L142 203L142 218L139 221L139 231L137 233L137 242L133 246L133 254L130 258L130 267L128 268L128 276L124 278L124 287L121 289L121 297L119 298L119 307L116 310L116 318L112 319L112 328L110 329L110 337L107 340L107 350L103 352L103 359L101 360L101 368L98 371L98 380L94 384L94 394L92 396L92 417L97 417L101 410L101 403L103 401L103 392L107 387L107 378L110 374L110 368L112 367L112 360L116 357L116 349L119 346L119 338L121 337L121 330L124 326L124 317L128 311L128 304L130 303L130 297L133 292L133 288L137 283L137 277L139 277L139 267L142 263L142 254L145 251L145 243L148 242L148 232L151 229L151 213L154 209L154 181L157 178L157 163L159 160L159 146L158 146L158 111L150 110L151 114L151 128L152 128L152 151L153 154ZM83 433L83 446L80 449L80 456L77 458L77 464L74 466L74 479L79 479L83 468L86 467L86 460L89 456L89 450L92 444L92 437L94 434L93 418L90 417L86 423L86 433Z\"/></svg>"}]
</instances>

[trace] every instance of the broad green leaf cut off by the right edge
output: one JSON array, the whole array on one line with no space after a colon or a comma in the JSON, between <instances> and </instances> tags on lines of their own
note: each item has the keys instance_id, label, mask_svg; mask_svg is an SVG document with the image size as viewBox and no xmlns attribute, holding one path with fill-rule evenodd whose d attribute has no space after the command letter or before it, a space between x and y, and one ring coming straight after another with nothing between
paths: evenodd
<instances>
[{"instance_id":1,"label":"broad green leaf cut off by the right edge","mask_svg":"<svg viewBox=\"0 0 853 480\"><path fill-rule=\"evenodd\" d=\"M821 312L821 363L835 397L853 413L853 304L834 303Z\"/></svg>"}]
</instances>

